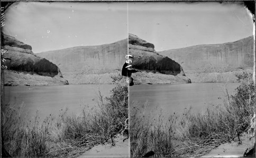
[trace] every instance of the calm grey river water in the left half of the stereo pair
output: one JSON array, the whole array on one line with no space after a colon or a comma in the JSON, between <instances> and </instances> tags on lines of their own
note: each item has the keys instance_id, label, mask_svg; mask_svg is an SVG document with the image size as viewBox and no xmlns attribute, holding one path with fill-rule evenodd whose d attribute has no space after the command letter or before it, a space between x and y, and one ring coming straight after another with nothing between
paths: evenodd
<instances>
[{"instance_id":1,"label":"calm grey river water in the left half of the stereo pair","mask_svg":"<svg viewBox=\"0 0 256 158\"><path fill-rule=\"evenodd\" d=\"M97 104L98 88L103 96L109 96L115 85L59 85L59 86L5 86L2 109L7 106L25 105L22 116L33 117L38 111L40 118L49 114L58 115L68 108L68 113L79 113L84 106Z\"/></svg>"}]
</instances>

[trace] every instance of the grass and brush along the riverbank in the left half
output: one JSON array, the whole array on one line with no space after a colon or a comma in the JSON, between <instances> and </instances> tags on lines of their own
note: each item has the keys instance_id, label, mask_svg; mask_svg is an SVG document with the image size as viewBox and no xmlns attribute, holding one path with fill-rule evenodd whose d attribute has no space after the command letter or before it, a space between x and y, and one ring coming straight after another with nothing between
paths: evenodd
<instances>
[{"instance_id":1,"label":"grass and brush along the riverbank in the left half","mask_svg":"<svg viewBox=\"0 0 256 158\"><path fill-rule=\"evenodd\" d=\"M104 98L99 90L97 106L84 108L79 115L67 115L66 110L41 122L38 115L32 120L21 118L22 106L8 105L2 112L4 149L13 157L73 157L111 142L125 131L128 118L127 85L122 77L116 80L120 82L110 97Z\"/></svg>"}]
</instances>

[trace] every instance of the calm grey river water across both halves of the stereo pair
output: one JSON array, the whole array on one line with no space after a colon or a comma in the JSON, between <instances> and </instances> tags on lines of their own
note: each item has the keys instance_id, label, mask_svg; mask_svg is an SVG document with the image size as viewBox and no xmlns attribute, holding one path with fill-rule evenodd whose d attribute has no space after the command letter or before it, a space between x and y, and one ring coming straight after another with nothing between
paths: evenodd
<instances>
[{"instance_id":1,"label":"calm grey river water across both halves of the stereo pair","mask_svg":"<svg viewBox=\"0 0 256 158\"><path fill-rule=\"evenodd\" d=\"M145 112L156 115L181 113L184 108L201 111L207 105L221 104L226 88L230 95L239 83L192 83L192 84L142 84L130 86L130 104L141 107L147 102ZM41 118L57 115L65 108L68 113L79 113L86 106L97 104L98 87L103 96L109 96L115 85L60 85L60 86L5 86L2 109L13 105L25 105L22 116L33 117L38 111Z\"/></svg>"}]
</instances>

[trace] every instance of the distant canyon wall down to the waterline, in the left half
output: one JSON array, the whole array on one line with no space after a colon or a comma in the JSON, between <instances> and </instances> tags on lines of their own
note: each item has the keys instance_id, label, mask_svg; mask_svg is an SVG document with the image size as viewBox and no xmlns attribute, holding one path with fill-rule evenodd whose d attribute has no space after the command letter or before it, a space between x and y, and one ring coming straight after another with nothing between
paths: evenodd
<instances>
[{"instance_id":1,"label":"distant canyon wall down to the waterline, in the left half","mask_svg":"<svg viewBox=\"0 0 256 158\"><path fill-rule=\"evenodd\" d=\"M120 72L127 55L127 39L98 46L78 46L37 53L59 66L71 84L112 83L111 75Z\"/></svg>"}]
</instances>

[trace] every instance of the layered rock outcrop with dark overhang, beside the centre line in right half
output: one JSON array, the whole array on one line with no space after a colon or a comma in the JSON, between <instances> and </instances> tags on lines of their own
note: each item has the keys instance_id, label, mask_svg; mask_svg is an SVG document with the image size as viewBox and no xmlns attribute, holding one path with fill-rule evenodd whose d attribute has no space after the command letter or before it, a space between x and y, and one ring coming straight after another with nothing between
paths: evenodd
<instances>
[{"instance_id":1,"label":"layered rock outcrop with dark overhang, beside the centre line in right half","mask_svg":"<svg viewBox=\"0 0 256 158\"><path fill-rule=\"evenodd\" d=\"M179 63L158 54L153 44L133 34L129 34L129 54L132 68L139 71L132 75L135 84L188 83Z\"/></svg>"}]
</instances>

